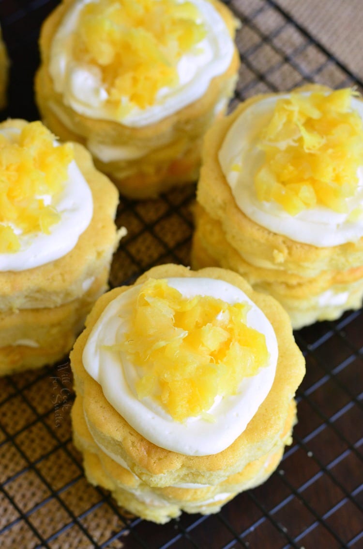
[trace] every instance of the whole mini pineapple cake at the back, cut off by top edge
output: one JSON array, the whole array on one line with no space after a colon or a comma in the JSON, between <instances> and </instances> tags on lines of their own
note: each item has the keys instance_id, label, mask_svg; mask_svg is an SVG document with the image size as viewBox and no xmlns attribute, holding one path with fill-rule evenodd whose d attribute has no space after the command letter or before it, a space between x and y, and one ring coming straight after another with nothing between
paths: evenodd
<instances>
[{"instance_id":1,"label":"whole mini pineapple cake at the back, cut off by top edge","mask_svg":"<svg viewBox=\"0 0 363 549\"><path fill-rule=\"evenodd\" d=\"M236 26L218 0L63 0L41 32L44 123L129 197L196 181L237 81Z\"/></svg>"}]
</instances>

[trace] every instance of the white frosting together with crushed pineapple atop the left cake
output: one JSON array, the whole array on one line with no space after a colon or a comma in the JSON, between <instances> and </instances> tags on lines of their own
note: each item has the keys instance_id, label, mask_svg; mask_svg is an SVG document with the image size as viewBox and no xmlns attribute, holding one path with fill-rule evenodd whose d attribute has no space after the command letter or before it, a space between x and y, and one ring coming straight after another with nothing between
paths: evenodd
<instances>
[{"instance_id":1,"label":"white frosting together with crushed pineapple atop the left cake","mask_svg":"<svg viewBox=\"0 0 363 549\"><path fill-rule=\"evenodd\" d=\"M0 174L0 271L24 271L71 251L93 215L72 146L58 145L41 122L2 127Z\"/></svg>"}]
</instances>

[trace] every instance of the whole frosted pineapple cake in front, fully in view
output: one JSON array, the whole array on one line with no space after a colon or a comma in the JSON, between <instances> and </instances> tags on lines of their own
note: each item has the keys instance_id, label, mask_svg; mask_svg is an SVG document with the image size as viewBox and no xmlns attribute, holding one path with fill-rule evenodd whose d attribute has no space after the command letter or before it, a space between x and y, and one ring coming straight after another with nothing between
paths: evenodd
<instances>
[{"instance_id":1,"label":"whole frosted pineapple cake in front, fully in view","mask_svg":"<svg viewBox=\"0 0 363 549\"><path fill-rule=\"evenodd\" d=\"M215 513L278 466L304 359L273 298L221 268L152 268L101 296L71 352L85 474L165 523Z\"/></svg>"}]
</instances>

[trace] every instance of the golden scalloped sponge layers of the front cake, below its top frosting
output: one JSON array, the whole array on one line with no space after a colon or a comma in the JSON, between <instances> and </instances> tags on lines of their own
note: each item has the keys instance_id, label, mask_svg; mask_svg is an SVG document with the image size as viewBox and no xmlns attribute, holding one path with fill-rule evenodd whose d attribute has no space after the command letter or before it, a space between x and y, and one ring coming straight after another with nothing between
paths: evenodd
<instances>
[{"instance_id":1,"label":"golden scalloped sponge layers of the front cake, below its top frosting","mask_svg":"<svg viewBox=\"0 0 363 549\"><path fill-rule=\"evenodd\" d=\"M84 349L90 339L97 341L97 345L107 346L100 335L100 323L106 322L105 310L129 288L116 288L96 302L87 328L71 353L77 393L72 410L74 443L83 454L85 474L92 484L111 490L120 506L157 523L165 523L181 511L215 513L239 492L261 484L272 474L285 445L291 443L292 427L296 423L294 395L304 373L304 360L293 341L289 318L275 300L253 292L236 273L216 268L193 272L175 265L154 267L136 281L134 287L148 278L171 277L191 281L195 280L193 277L201 277L204 284L208 277L214 279L212 282L224 281L243 290L272 324L279 356L272 388L232 444L209 455L168 450L166 447L171 442L167 433L164 435L166 447L162 447L131 427L105 397L100 384L105 382L105 373L98 383L84 367ZM208 294L208 285L206 292ZM124 318L122 310L118 316ZM124 368L122 363L118 368ZM122 393L119 399L123 400ZM146 417L143 421L152 422L152 418ZM240 423L243 418L237 414L233 421ZM193 435L189 436L195 445ZM217 436L215 443L220 444Z\"/></svg>"}]
</instances>

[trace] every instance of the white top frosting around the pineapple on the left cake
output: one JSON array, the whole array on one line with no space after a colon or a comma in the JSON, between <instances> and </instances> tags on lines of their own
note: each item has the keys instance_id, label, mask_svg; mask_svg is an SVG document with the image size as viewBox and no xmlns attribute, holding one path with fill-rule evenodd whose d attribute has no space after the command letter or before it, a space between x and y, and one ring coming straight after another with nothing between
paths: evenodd
<instances>
[{"instance_id":1,"label":"white top frosting around the pineapple on the left cake","mask_svg":"<svg viewBox=\"0 0 363 549\"><path fill-rule=\"evenodd\" d=\"M4 128L0 131L8 138L11 132L19 133L19 130ZM50 234L22 234L13 227L20 240L20 250L0 253L0 271L25 271L59 259L74 248L80 235L89 226L93 215L93 198L76 161L72 160L68 166L68 180L61 193L56 197L44 195L39 198L55 208L60 215L59 221L50 227Z\"/></svg>"}]
</instances>

